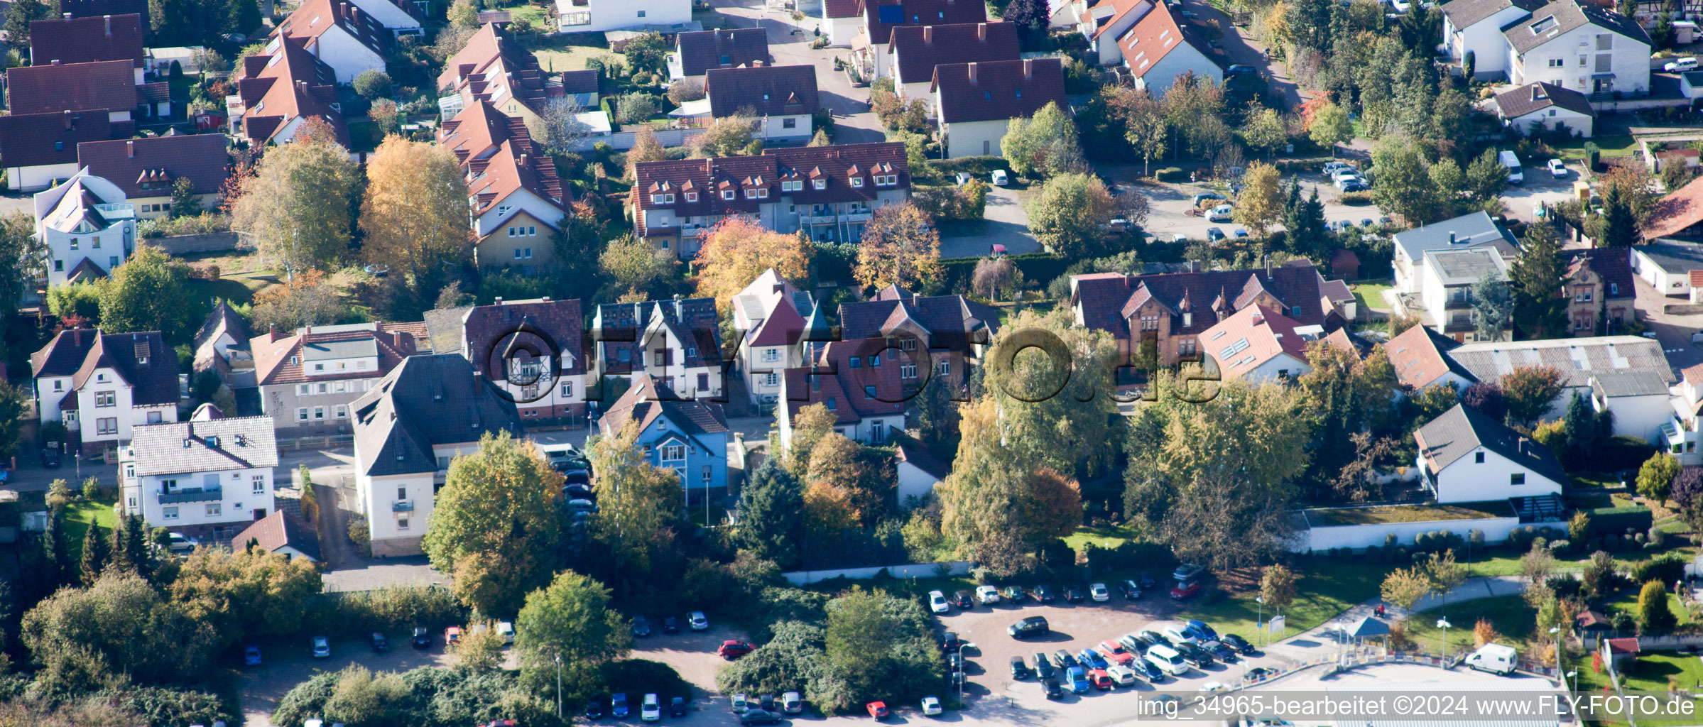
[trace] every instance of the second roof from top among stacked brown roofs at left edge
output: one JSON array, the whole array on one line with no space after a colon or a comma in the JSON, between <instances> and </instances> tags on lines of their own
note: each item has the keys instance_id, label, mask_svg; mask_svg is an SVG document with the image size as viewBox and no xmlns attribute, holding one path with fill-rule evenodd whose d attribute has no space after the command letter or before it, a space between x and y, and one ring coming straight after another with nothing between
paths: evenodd
<instances>
[{"instance_id":1,"label":"second roof from top among stacked brown roofs at left edge","mask_svg":"<svg viewBox=\"0 0 1703 727\"><path fill-rule=\"evenodd\" d=\"M12 68L5 72L5 85L14 114L129 111L141 106L136 68L128 60Z\"/></svg>"}]
</instances>

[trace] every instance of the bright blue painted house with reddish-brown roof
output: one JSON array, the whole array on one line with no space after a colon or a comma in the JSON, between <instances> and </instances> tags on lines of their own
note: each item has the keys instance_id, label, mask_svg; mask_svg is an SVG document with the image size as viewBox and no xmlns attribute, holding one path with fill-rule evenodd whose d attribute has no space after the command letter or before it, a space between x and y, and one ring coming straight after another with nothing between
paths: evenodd
<instances>
[{"instance_id":1,"label":"bright blue painted house with reddish-brown roof","mask_svg":"<svg viewBox=\"0 0 1703 727\"><path fill-rule=\"evenodd\" d=\"M714 402L683 400L656 376L634 376L632 388L610 405L598 421L603 436L616 436L628 422L639 422L634 443L656 467L679 473L686 504L703 502L703 495L727 495L727 415Z\"/></svg>"}]
</instances>

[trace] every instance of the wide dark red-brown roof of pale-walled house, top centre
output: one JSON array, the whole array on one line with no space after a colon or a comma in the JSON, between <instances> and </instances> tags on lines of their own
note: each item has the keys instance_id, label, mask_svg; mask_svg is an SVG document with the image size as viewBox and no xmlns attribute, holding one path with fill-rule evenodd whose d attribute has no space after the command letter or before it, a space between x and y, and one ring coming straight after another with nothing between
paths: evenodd
<instances>
[{"instance_id":1,"label":"wide dark red-brown roof of pale-walled house, top centre","mask_svg":"<svg viewBox=\"0 0 1703 727\"><path fill-rule=\"evenodd\" d=\"M938 65L932 90L947 124L1034 116L1047 104L1069 107L1059 58Z\"/></svg>"}]
</instances>

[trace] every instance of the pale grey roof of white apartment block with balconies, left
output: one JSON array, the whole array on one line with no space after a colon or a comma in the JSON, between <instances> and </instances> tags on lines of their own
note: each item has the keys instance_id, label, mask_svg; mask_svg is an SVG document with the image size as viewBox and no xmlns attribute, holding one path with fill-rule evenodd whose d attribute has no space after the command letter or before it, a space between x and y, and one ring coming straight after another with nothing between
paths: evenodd
<instances>
[{"instance_id":1,"label":"pale grey roof of white apartment block with balconies, left","mask_svg":"<svg viewBox=\"0 0 1703 727\"><path fill-rule=\"evenodd\" d=\"M136 475L278 467L272 417L146 424L131 432L129 449Z\"/></svg>"}]
</instances>

